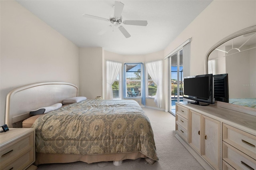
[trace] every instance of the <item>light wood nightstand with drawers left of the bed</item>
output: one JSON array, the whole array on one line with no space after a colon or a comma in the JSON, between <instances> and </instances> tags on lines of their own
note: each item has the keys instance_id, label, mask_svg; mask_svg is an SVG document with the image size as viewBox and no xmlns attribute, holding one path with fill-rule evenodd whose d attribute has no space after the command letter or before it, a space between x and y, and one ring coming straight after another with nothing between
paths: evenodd
<instances>
[{"instance_id":1,"label":"light wood nightstand with drawers left of the bed","mask_svg":"<svg viewBox=\"0 0 256 170\"><path fill-rule=\"evenodd\" d=\"M35 129L9 128L0 133L0 169L36 170Z\"/></svg>"}]
</instances>

